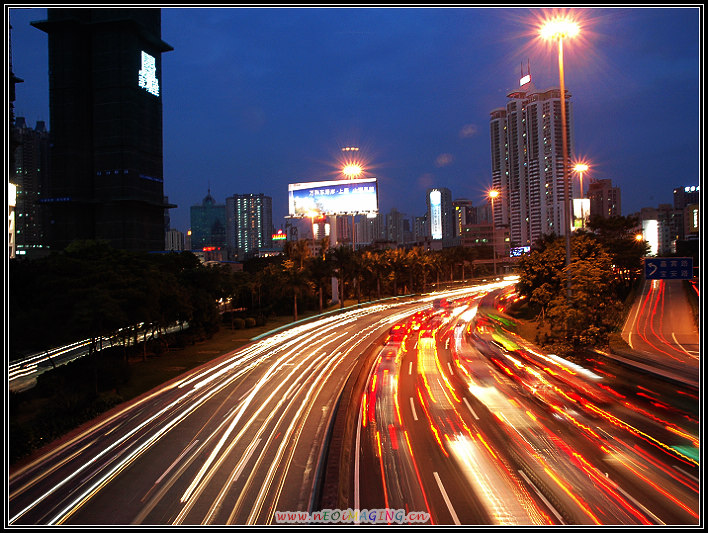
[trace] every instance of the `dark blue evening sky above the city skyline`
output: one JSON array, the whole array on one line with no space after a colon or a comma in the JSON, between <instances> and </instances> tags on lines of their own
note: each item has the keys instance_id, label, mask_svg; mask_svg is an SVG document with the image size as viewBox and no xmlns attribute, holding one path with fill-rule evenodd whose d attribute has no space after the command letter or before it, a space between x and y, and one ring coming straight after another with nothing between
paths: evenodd
<instances>
[{"instance_id":1,"label":"dark blue evening sky above the city skyline","mask_svg":"<svg viewBox=\"0 0 708 533\"><path fill-rule=\"evenodd\" d=\"M558 86L557 48L537 37L548 10L527 8L164 8L165 194L186 231L211 187L273 198L288 183L336 177L357 146L379 179L379 207L425 212L425 190L478 205L491 185L489 112L528 61ZM698 5L571 9L565 45L576 156L622 189L622 214L672 203L699 183ZM15 112L49 127L45 9L10 9ZM702 168L701 168L702 170Z\"/></svg>"}]
</instances>

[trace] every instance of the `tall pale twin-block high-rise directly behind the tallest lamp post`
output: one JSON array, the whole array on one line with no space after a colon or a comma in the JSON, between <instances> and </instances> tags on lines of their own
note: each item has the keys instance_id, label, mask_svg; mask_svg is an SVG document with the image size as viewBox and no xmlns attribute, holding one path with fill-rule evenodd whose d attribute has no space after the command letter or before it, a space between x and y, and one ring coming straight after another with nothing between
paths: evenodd
<instances>
[{"instance_id":1,"label":"tall pale twin-block high-rise directly behind the tallest lamp post","mask_svg":"<svg viewBox=\"0 0 708 533\"><path fill-rule=\"evenodd\" d=\"M574 144L570 96L566 91L569 159ZM509 226L512 246L525 246L542 235L570 230L565 218L561 94L558 88L539 91L525 76L507 98L505 107L490 112L492 187L500 193L494 222Z\"/></svg>"}]
</instances>

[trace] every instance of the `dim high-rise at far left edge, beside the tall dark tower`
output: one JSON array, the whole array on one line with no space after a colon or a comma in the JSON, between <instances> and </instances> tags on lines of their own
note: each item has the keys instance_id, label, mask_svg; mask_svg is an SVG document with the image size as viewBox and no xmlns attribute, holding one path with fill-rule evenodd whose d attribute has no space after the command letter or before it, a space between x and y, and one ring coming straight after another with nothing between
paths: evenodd
<instances>
[{"instance_id":1,"label":"dim high-rise at far left edge, beside the tall dark tower","mask_svg":"<svg viewBox=\"0 0 708 533\"><path fill-rule=\"evenodd\" d=\"M39 202L49 174L49 132L44 121L31 128L24 117L17 117L12 130L17 146L10 172L10 181L17 185L17 255L39 257L48 252Z\"/></svg>"}]
</instances>

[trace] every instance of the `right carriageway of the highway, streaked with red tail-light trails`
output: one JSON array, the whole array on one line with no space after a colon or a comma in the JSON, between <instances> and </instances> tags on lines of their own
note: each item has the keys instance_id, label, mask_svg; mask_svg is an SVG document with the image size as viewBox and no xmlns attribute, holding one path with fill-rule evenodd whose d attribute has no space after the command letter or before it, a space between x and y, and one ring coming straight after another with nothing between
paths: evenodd
<instances>
[{"instance_id":1,"label":"right carriageway of the highway, streaked with red tail-light trails","mask_svg":"<svg viewBox=\"0 0 708 533\"><path fill-rule=\"evenodd\" d=\"M359 404L346 504L434 524L697 524L697 418L650 377L620 387L539 352L479 312L489 298L396 325Z\"/></svg>"}]
</instances>

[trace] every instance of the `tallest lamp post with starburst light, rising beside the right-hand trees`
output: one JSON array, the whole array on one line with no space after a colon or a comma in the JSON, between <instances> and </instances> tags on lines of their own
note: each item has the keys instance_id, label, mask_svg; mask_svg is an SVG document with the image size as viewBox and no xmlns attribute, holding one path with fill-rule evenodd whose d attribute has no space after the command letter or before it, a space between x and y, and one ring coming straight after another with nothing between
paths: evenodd
<instances>
[{"instance_id":1,"label":"tallest lamp post with starburst light, rising beside the right-hand trees","mask_svg":"<svg viewBox=\"0 0 708 533\"><path fill-rule=\"evenodd\" d=\"M568 132L565 111L565 74L563 71L563 40L575 37L580 32L577 23L567 19L554 19L546 22L541 28L541 37L558 41L558 77L560 78L561 127L563 132L563 181L565 189L565 264L567 273L567 295L571 298L570 282L570 175L568 169Z\"/></svg>"}]
</instances>

